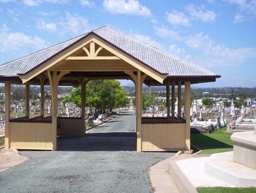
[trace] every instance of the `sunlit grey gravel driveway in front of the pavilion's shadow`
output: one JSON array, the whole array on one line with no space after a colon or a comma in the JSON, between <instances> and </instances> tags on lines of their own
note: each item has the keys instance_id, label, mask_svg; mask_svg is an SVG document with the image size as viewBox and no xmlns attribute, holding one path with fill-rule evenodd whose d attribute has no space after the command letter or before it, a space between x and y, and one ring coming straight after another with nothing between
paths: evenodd
<instances>
[{"instance_id":1,"label":"sunlit grey gravel driveway in front of the pavilion's shadow","mask_svg":"<svg viewBox=\"0 0 256 193\"><path fill-rule=\"evenodd\" d=\"M174 153L22 152L0 173L1 192L153 192L147 168Z\"/></svg>"}]
</instances>

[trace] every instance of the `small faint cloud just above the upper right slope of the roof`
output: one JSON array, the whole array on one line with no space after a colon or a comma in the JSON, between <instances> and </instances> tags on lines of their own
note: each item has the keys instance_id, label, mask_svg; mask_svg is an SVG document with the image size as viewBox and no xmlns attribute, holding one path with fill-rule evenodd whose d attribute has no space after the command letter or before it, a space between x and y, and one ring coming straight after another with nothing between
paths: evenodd
<instances>
[{"instance_id":1,"label":"small faint cloud just above the upper right slope of the roof","mask_svg":"<svg viewBox=\"0 0 256 193\"><path fill-rule=\"evenodd\" d=\"M168 29L164 26L158 27L158 26L154 26L154 32L156 35L163 37L163 38L173 38L175 40L180 41L181 40L181 36L179 34L179 32Z\"/></svg>"}]
</instances>

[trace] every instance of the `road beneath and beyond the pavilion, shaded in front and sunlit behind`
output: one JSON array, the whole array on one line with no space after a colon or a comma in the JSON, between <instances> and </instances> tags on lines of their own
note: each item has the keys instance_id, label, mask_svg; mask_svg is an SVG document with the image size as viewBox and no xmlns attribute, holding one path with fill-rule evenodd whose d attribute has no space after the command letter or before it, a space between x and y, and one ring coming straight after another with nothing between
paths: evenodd
<instances>
[{"instance_id":1,"label":"road beneath and beyond the pavilion, shaded in front and sunlit behind","mask_svg":"<svg viewBox=\"0 0 256 193\"><path fill-rule=\"evenodd\" d=\"M136 151L136 116L122 115L88 131L86 137L60 138L58 151Z\"/></svg>"}]
</instances>

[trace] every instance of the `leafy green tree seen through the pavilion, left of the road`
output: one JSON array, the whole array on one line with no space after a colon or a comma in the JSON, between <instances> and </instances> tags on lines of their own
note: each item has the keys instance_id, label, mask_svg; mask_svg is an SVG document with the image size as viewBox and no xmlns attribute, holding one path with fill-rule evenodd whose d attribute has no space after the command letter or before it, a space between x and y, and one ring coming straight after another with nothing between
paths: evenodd
<instances>
[{"instance_id":1,"label":"leafy green tree seen through the pavilion, left of the road","mask_svg":"<svg viewBox=\"0 0 256 193\"><path fill-rule=\"evenodd\" d=\"M81 87L70 92L61 102L74 102L81 107ZM124 88L117 80L91 80L86 85L86 106L97 110L120 108L128 102Z\"/></svg>"}]
</instances>

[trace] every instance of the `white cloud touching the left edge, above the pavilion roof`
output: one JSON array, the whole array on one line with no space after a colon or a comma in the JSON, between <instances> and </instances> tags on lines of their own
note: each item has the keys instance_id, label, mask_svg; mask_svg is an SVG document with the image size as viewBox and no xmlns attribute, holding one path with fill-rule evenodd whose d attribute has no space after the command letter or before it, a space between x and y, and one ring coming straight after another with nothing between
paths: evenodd
<instances>
[{"instance_id":1,"label":"white cloud touching the left edge, above the pavilion roof","mask_svg":"<svg viewBox=\"0 0 256 193\"><path fill-rule=\"evenodd\" d=\"M46 48L46 42L44 39L38 36L28 36L24 33L9 32L7 25L2 25L0 29L0 51L11 50L24 50L29 49L43 49Z\"/></svg>"}]
</instances>

